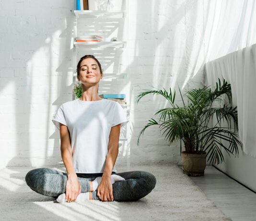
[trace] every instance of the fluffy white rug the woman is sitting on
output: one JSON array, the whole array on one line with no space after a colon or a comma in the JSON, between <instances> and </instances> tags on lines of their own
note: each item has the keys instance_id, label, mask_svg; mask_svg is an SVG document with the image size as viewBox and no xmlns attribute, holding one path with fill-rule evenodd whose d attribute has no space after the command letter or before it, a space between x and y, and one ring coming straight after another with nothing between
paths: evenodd
<instances>
[{"instance_id":1,"label":"fluffy white rug the woman is sitting on","mask_svg":"<svg viewBox=\"0 0 256 221\"><path fill-rule=\"evenodd\" d=\"M46 167L65 172L65 167ZM231 221L176 165L131 166L130 171L147 171L157 180L151 193L138 201L90 200L64 204L38 194L26 185L25 175L34 168L8 167L0 170L1 220ZM117 172L126 171L126 167L116 166L116 169Z\"/></svg>"}]
</instances>

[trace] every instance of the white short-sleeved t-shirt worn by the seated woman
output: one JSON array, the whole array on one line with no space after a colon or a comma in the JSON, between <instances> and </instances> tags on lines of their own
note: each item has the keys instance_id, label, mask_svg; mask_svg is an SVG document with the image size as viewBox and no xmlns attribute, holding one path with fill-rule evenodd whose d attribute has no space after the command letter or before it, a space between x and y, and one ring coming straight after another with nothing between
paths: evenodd
<instances>
[{"instance_id":1,"label":"white short-sleeved t-shirt worn by the seated woman","mask_svg":"<svg viewBox=\"0 0 256 221\"><path fill-rule=\"evenodd\" d=\"M103 173L111 127L121 123L122 128L128 119L114 100L75 99L61 104L52 122L58 129L59 122L69 129L75 172Z\"/></svg>"}]
</instances>

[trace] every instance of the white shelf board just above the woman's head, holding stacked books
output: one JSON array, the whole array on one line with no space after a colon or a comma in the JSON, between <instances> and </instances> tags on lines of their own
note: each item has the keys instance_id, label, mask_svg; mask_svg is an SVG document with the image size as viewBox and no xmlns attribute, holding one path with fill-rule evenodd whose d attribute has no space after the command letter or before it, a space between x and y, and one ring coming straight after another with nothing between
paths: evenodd
<instances>
[{"instance_id":1,"label":"white shelf board just above the woman's head, holding stacked books","mask_svg":"<svg viewBox=\"0 0 256 221\"><path fill-rule=\"evenodd\" d=\"M99 47L99 48L108 48L108 47L114 47L114 48L122 48L126 46L126 42L119 42L119 41L114 41L114 42L74 42L74 45L76 47Z\"/></svg>"}]
</instances>

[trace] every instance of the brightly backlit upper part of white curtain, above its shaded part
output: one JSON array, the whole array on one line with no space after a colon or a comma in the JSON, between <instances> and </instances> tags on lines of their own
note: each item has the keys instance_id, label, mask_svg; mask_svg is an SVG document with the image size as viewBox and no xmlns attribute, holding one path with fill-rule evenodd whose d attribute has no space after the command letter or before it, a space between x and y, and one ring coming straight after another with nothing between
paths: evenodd
<instances>
[{"instance_id":1,"label":"brightly backlit upper part of white curtain, above its shaded part","mask_svg":"<svg viewBox=\"0 0 256 221\"><path fill-rule=\"evenodd\" d=\"M206 0L205 63L256 44L256 0Z\"/></svg>"}]
</instances>

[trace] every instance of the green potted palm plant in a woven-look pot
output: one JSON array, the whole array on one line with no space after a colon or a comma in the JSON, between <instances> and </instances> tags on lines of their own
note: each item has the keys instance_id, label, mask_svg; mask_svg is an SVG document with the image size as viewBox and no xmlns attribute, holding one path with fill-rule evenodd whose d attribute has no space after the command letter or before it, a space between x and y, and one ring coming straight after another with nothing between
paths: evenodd
<instances>
[{"instance_id":1,"label":"green potted palm plant in a woven-look pot","mask_svg":"<svg viewBox=\"0 0 256 221\"><path fill-rule=\"evenodd\" d=\"M237 107L232 107L231 85L219 78L219 84L216 82L216 88L211 90L208 87L185 90L182 95L180 88L179 93L183 102L183 106L179 107L175 104L174 93L170 88L170 92L163 90L145 90L139 93L136 102L147 95L162 95L170 103L171 107L158 110L156 114L160 115L157 122L149 120L144 128L140 131L137 145L139 145L140 135L144 134L146 128L152 125L159 125L160 130L165 134L165 139L170 142L180 141L180 152L182 155L184 173L188 176L202 176L206 166L206 158L209 164L219 164L224 162L221 147L229 155L238 155L239 146L242 143L238 138L238 118ZM184 97L187 98L185 104ZM226 102L223 97L226 97ZM215 101L224 100L223 105L214 107ZM211 124L213 117L216 117L216 124ZM224 122L224 120L226 122ZM221 125L222 122L222 125ZM228 142L228 145L222 143ZM185 151L182 151L182 142Z\"/></svg>"}]
</instances>

